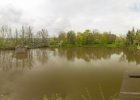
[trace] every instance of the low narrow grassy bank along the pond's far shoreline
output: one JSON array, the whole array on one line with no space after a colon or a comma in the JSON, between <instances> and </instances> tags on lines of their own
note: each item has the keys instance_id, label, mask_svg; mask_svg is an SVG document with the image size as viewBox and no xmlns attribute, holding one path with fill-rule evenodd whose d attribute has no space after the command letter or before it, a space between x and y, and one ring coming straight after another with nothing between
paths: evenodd
<instances>
[{"instance_id":1,"label":"low narrow grassy bank along the pond's far shoreline","mask_svg":"<svg viewBox=\"0 0 140 100\"><path fill-rule=\"evenodd\" d=\"M73 47L84 47L84 48L121 48L118 47L116 44L88 44L88 45L76 45L76 44L50 44L50 43L37 43L37 45L26 44L26 45L7 45L3 44L0 46L0 50L14 50L16 47L26 47L28 49L35 49L35 48L73 48ZM127 48L134 48L134 47L127 47Z\"/></svg>"}]
</instances>

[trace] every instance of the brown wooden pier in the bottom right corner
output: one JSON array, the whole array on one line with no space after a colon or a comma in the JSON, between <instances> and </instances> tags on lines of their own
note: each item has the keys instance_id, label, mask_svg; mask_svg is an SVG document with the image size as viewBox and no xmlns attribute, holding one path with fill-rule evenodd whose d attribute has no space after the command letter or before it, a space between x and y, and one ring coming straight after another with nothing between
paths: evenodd
<instances>
[{"instance_id":1,"label":"brown wooden pier in the bottom right corner","mask_svg":"<svg viewBox=\"0 0 140 100\"><path fill-rule=\"evenodd\" d=\"M119 98L119 100L140 100L140 72L124 74Z\"/></svg>"}]
</instances>

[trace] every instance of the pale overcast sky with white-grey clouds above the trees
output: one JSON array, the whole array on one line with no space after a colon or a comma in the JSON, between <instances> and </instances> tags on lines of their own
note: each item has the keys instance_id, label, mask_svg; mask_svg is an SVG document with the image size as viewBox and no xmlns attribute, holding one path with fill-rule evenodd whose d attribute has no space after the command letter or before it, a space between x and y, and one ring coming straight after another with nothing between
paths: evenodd
<instances>
[{"instance_id":1,"label":"pale overcast sky with white-grey clouds above the trees","mask_svg":"<svg viewBox=\"0 0 140 100\"><path fill-rule=\"evenodd\" d=\"M0 0L0 25L125 34L140 28L140 0Z\"/></svg>"}]
</instances>

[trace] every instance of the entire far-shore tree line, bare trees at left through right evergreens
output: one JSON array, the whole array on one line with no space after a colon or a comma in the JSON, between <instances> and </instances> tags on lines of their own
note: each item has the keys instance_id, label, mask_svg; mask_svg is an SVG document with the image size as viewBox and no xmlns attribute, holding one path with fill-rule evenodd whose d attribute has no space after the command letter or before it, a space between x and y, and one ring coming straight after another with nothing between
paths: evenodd
<instances>
[{"instance_id":1,"label":"entire far-shore tree line, bare trees at left through right evergreens","mask_svg":"<svg viewBox=\"0 0 140 100\"><path fill-rule=\"evenodd\" d=\"M15 47L129 47L140 43L140 30L133 28L126 37L117 36L111 32L85 30L84 32L60 32L56 37L49 37L47 29L33 31L31 26L22 26L12 30L8 26L0 27L0 48L14 49Z\"/></svg>"}]
</instances>

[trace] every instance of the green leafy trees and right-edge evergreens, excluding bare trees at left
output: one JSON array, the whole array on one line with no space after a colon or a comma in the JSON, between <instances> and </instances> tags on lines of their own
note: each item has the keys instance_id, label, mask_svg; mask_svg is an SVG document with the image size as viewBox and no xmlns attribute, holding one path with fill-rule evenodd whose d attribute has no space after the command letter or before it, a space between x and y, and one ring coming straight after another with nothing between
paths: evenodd
<instances>
[{"instance_id":1,"label":"green leafy trees and right-edge evergreens, excluding bare trees at left","mask_svg":"<svg viewBox=\"0 0 140 100\"><path fill-rule=\"evenodd\" d=\"M126 36L117 36L111 32L98 32L96 30L85 30L84 32L60 32L55 42L60 46L89 46L89 47L112 47L129 48L140 44L140 30L133 28ZM56 44L57 44L56 43ZM55 43L54 43L55 44Z\"/></svg>"}]
</instances>

